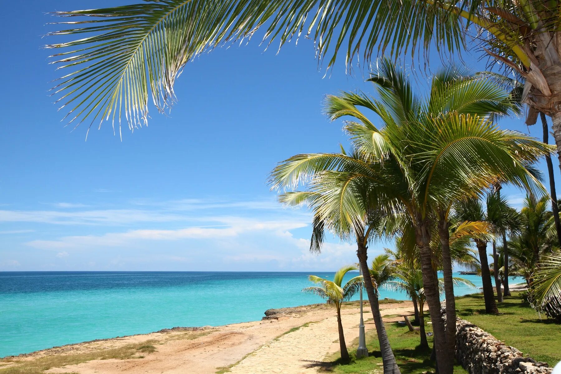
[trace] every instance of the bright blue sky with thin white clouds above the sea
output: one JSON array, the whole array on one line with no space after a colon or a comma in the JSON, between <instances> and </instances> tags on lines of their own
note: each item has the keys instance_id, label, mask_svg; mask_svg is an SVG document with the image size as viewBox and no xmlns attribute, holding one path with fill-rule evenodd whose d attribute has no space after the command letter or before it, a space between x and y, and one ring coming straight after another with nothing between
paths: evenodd
<instances>
[{"instance_id":1,"label":"bright blue sky with thin white clouds above the sea","mask_svg":"<svg viewBox=\"0 0 561 374\"><path fill-rule=\"evenodd\" d=\"M86 127L64 127L48 96L60 73L42 35L53 30L49 11L109 4L8 2L0 15L0 271L325 271L356 261L337 239L310 255L310 216L279 206L266 179L278 161L346 142L321 103L371 91L361 71L339 63L324 77L312 41L277 55L254 38L188 63L169 116L152 110L149 126L123 130L122 141L104 123L85 141ZM501 125L528 132L522 119ZM505 193L521 204L521 192Z\"/></svg>"}]
</instances>

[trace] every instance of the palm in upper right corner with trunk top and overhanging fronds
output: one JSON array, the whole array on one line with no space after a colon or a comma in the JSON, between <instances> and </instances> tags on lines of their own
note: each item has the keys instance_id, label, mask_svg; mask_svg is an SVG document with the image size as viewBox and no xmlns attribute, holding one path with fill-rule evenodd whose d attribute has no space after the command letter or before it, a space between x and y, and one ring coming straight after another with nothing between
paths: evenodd
<instances>
[{"instance_id":1,"label":"palm in upper right corner with trunk top and overhanging fronds","mask_svg":"<svg viewBox=\"0 0 561 374\"><path fill-rule=\"evenodd\" d=\"M339 52L347 66L357 57L367 66L384 52L421 49L428 56L431 45L461 52L475 34L491 59L524 77L530 119L539 112L551 116L561 149L557 2L147 0L55 14L72 21L50 34L73 40L48 46L56 49L54 62L70 71L54 90L77 123L114 123L124 112L131 128L139 126L150 99L159 110L173 103L174 82L188 61L249 39L264 25L264 40L276 40L279 48L302 33L314 39L316 56L328 67Z\"/></svg>"}]
</instances>

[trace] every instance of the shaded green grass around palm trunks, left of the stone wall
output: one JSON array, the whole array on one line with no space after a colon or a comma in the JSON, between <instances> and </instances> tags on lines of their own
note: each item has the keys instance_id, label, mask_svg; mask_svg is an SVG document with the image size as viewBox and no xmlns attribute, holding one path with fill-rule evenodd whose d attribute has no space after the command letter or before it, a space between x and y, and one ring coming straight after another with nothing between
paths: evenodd
<instances>
[{"instance_id":1,"label":"shaded green grass around palm trunks, left of the stone wall","mask_svg":"<svg viewBox=\"0 0 561 374\"><path fill-rule=\"evenodd\" d=\"M426 318L426 322L430 321ZM402 374L434 373L434 362L430 360L431 349L420 349L420 336L417 331L410 332L407 326L401 326L397 322L385 324L390 345L396 355L397 364ZM426 332L432 331L431 326L426 326ZM430 347L433 346L433 337L427 336ZM358 339L348 344L351 354L351 363L341 362L339 353L329 357L327 365L323 370L333 373L360 373L377 374L383 372L382 359L380 357L380 346L376 331L371 330L366 334L366 346L370 349L368 358L355 359ZM454 374L467 374L461 366L454 366Z\"/></svg>"}]
</instances>

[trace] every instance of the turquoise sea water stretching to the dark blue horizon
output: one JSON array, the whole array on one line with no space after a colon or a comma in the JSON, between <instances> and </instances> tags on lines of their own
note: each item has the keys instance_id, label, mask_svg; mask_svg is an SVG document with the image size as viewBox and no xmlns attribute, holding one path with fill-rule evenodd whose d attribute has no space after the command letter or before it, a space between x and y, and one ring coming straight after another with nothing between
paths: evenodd
<instances>
[{"instance_id":1,"label":"turquoise sea water stretching to the dark blue horizon","mask_svg":"<svg viewBox=\"0 0 561 374\"><path fill-rule=\"evenodd\" d=\"M0 357L174 326L260 320L269 308L322 302L301 292L311 285L308 274L0 272ZM479 276L463 277L481 287ZM478 291L456 288L457 295ZM407 298L389 290L380 296Z\"/></svg>"}]
</instances>

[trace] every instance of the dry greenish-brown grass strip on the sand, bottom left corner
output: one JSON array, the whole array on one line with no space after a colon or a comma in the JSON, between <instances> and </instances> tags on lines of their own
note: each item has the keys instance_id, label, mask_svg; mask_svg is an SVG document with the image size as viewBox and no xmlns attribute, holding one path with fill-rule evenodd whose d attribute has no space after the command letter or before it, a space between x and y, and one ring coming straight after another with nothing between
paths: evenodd
<instances>
[{"instance_id":1,"label":"dry greenish-brown grass strip on the sand, bottom left corner","mask_svg":"<svg viewBox=\"0 0 561 374\"><path fill-rule=\"evenodd\" d=\"M98 352L76 353L76 354L57 354L40 357L34 360L19 358L0 359L0 363L14 363L12 366L0 368L0 374L43 374L45 370L53 367L79 364L95 359L109 358L144 358L142 354L155 352L153 344L155 340L146 340L138 344L127 344L123 347L99 350Z\"/></svg>"}]
</instances>

